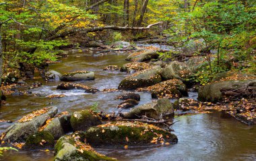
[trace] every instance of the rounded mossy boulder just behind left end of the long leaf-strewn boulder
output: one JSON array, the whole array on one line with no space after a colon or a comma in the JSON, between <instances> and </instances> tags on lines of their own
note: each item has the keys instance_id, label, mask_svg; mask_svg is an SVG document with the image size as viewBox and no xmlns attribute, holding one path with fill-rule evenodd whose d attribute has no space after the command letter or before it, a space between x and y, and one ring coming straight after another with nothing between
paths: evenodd
<instances>
[{"instance_id":1,"label":"rounded mossy boulder just behind left end of the long leaf-strewn boulder","mask_svg":"<svg viewBox=\"0 0 256 161\"><path fill-rule=\"evenodd\" d=\"M73 112L70 123L74 131L86 131L90 127L102 124L100 118L90 110Z\"/></svg>"}]
</instances>

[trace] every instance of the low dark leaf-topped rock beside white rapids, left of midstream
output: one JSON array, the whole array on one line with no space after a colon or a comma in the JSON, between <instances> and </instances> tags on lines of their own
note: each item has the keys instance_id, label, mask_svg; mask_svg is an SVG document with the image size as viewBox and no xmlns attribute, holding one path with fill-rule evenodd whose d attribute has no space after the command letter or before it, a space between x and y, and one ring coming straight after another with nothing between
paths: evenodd
<instances>
[{"instance_id":1,"label":"low dark leaf-topped rock beside white rapids, left of midstream","mask_svg":"<svg viewBox=\"0 0 256 161\"><path fill-rule=\"evenodd\" d=\"M99 90L96 88L90 88L83 84L73 84L73 83L61 83L57 86L57 90L85 90L87 93L96 93Z\"/></svg>"}]
</instances>

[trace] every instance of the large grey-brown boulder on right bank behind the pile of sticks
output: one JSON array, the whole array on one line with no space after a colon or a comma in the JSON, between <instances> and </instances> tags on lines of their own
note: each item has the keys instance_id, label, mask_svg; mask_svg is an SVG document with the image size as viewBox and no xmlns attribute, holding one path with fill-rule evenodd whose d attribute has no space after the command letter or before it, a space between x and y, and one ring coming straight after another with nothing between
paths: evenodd
<instances>
[{"instance_id":1,"label":"large grey-brown boulder on right bank behind the pile of sticks","mask_svg":"<svg viewBox=\"0 0 256 161\"><path fill-rule=\"evenodd\" d=\"M222 100L224 98L221 89L228 88L243 88L245 86L256 86L256 79L245 79L245 80L230 80L223 82L216 82L213 84L207 84L205 86L201 86L198 90L198 100L200 101L209 101L209 102L217 102L218 100Z\"/></svg>"}]
</instances>

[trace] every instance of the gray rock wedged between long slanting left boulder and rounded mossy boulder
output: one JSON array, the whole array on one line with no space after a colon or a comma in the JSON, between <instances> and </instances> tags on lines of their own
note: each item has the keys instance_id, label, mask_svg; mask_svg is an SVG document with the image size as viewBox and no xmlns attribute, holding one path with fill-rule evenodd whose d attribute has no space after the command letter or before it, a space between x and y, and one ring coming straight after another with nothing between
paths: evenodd
<instances>
[{"instance_id":1,"label":"gray rock wedged between long slanting left boulder and rounded mossy boulder","mask_svg":"<svg viewBox=\"0 0 256 161\"><path fill-rule=\"evenodd\" d=\"M47 123L42 131L48 131L53 135L55 139L59 139L59 137L65 135L72 131L71 123L70 123L71 115L68 112L62 112L57 117L50 119L49 123Z\"/></svg>"}]
</instances>

